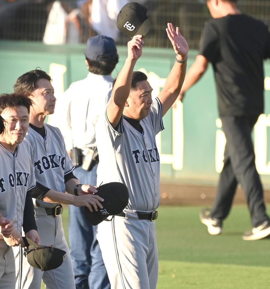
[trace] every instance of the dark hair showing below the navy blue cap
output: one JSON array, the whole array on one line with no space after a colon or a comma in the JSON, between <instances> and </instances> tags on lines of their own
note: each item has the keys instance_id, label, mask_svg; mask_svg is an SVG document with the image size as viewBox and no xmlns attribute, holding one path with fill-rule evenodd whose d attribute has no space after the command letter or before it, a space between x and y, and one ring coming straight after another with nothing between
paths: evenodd
<instances>
[{"instance_id":1,"label":"dark hair showing below the navy blue cap","mask_svg":"<svg viewBox=\"0 0 270 289\"><path fill-rule=\"evenodd\" d=\"M115 58L111 58L108 61L105 60L91 60L86 57L91 73L98 75L109 75L114 70L116 64L118 63L118 55Z\"/></svg>"}]
</instances>

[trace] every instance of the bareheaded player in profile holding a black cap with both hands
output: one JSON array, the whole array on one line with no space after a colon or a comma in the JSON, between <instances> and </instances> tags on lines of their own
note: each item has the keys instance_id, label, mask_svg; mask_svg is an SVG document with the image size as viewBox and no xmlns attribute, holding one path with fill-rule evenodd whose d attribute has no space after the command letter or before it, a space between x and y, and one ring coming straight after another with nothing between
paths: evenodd
<instances>
[{"instance_id":1,"label":"bareheaded player in profile holding a black cap with both hands","mask_svg":"<svg viewBox=\"0 0 270 289\"><path fill-rule=\"evenodd\" d=\"M43 186L43 192L35 195L35 218L42 245L53 245L67 252L63 264L57 269L42 272L28 264L21 251L16 254L17 284L21 288L40 288L41 280L46 288L75 288L74 274L67 242L64 237L59 203L78 206L91 205L102 208L103 199L89 192L97 192L93 186L81 185L73 175L73 162L65 149L64 139L56 127L44 123L45 117L54 112L54 89L51 77L42 70L33 70L20 76L15 92L21 92L33 101L30 109L30 125L26 140L34 151L36 180ZM65 192L69 194L65 194ZM71 195L73 194L73 195ZM75 195L75 196L74 196ZM79 196L78 196L79 195ZM48 203L50 202L50 203Z\"/></svg>"}]
</instances>

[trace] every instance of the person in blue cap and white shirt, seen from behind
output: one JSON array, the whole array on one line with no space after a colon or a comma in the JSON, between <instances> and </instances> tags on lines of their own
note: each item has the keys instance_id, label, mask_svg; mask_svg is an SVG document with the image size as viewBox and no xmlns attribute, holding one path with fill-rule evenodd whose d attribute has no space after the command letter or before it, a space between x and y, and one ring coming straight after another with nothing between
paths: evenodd
<instances>
[{"instance_id":1,"label":"person in blue cap and white shirt, seen from behind","mask_svg":"<svg viewBox=\"0 0 270 289\"><path fill-rule=\"evenodd\" d=\"M85 79L70 85L64 93L65 127L62 127L67 151L76 166L74 175L81 183L97 182L98 152L95 124L104 110L112 89L111 73L118 62L115 42L107 36L95 36L86 43ZM96 239L97 228L83 216L83 208L69 208L69 241L76 289L109 289L110 282Z\"/></svg>"}]
</instances>

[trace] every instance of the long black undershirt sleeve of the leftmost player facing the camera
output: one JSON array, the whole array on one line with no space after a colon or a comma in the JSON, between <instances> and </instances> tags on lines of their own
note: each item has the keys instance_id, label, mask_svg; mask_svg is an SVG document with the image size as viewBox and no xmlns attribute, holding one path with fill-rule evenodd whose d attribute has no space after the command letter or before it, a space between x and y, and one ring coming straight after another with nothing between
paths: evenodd
<instances>
[{"instance_id":1,"label":"long black undershirt sleeve of the leftmost player facing the camera","mask_svg":"<svg viewBox=\"0 0 270 289\"><path fill-rule=\"evenodd\" d=\"M24 210L23 210L23 231L27 233L30 230L37 231L37 229L38 228L37 228L36 220L35 220L32 194L31 194L31 191L28 191L26 193L25 205L24 205Z\"/></svg>"}]
</instances>

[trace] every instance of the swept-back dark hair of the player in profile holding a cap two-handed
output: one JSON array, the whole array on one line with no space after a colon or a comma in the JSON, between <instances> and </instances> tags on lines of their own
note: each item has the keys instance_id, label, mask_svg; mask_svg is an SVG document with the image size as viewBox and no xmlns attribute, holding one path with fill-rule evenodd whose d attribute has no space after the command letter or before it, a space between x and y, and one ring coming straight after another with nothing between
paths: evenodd
<instances>
[{"instance_id":1,"label":"swept-back dark hair of the player in profile holding a cap two-handed","mask_svg":"<svg viewBox=\"0 0 270 289\"><path fill-rule=\"evenodd\" d=\"M30 96L37 89L39 79L47 79L51 81L45 71L40 69L31 70L21 75L14 84L14 92L19 95Z\"/></svg>"}]
</instances>

